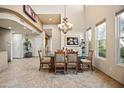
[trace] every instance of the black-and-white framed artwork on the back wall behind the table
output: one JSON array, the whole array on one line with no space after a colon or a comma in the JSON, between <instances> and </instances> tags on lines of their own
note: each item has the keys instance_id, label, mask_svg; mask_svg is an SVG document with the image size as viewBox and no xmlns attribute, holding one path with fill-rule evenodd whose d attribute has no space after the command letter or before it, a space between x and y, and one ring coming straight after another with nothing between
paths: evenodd
<instances>
[{"instance_id":1,"label":"black-and-white framed artwork on the back wall behind the table","mask_svg":"<svg viewBox=\"0 0 124 93\"><path fill-rule=\"evenodd\" d=\"M65 43L66 46L79 46L79 36L66 36Z\"/></svg>"}]
</instances>

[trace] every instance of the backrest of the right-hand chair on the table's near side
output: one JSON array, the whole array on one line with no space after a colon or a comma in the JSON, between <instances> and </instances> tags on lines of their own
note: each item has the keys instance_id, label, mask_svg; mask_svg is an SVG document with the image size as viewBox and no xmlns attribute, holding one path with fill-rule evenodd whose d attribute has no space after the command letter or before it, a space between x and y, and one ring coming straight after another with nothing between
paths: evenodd
<instances>
[{"instance_id":1,"label":"backrest of the right-hand chair on the table's near side","mask_svg":"<svg viewBox=\"0 0 124 93\"><path fill-rule=\"evenodd\" d=\"M67 54L67 62L77 62L78 61L78 52L68 52Z\"/></svg>"}]
</instances>

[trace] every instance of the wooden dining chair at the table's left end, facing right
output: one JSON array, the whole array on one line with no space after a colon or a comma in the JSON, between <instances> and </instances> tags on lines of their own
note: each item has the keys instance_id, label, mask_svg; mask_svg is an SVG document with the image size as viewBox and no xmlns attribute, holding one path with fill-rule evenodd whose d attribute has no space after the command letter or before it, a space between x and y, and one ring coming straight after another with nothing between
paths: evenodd
<instances>
[{"instance_id":1,"label":"wooden dining chair at the table's left end, facing right","mask_svg":"<svg viewBox=\"0 0 124 93\"><path fill-rule=\"evenodd\" d=\"M50 58L49 57L43 57L42 51L38 50L38 54L39 54L39 59L40 59L40 67L39 67L39 71L41 69L43 69L43 66L46 64L48 65L48 69L50 69Z\"/></svg>"}]
</instances>

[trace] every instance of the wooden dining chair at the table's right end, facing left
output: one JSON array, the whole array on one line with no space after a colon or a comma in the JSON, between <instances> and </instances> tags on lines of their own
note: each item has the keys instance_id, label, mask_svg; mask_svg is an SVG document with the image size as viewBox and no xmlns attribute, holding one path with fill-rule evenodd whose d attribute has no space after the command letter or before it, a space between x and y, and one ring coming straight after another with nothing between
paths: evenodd
<instances>
[{"instance_id":1,"label":"wooden dining chair at the table's right end, facing left","mask_svg":"<svg viewBox=\"0 0 124 93\"><path fill-rule=\"evenodd\" d=\"M89 50L88 52L88 57L86 59L81 59L81 63L82 63L82 69L84 68L84 66L88 66L88 68L90 68L93 71L93 50Z\"/></svg>"}]
</instances>

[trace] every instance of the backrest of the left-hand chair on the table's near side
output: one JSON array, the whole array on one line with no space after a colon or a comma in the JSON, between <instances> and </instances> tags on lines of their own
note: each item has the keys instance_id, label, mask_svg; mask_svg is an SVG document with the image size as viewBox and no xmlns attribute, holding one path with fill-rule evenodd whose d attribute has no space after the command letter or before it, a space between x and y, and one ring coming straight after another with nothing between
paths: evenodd
<instances>
[{"instance_id":1,"label":"backrest of the left-hand chair on the table's near side","mask_svg":"<svg viewBox=\"0 0 124 93\"><path fill-rule=\"evenodd\" d=\"M65 52L63 51L55 52L55 62L65 62Z\"/></svg>"}]
</instances>

